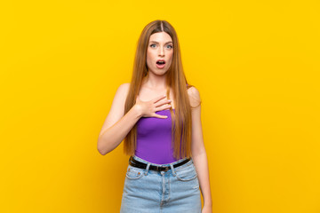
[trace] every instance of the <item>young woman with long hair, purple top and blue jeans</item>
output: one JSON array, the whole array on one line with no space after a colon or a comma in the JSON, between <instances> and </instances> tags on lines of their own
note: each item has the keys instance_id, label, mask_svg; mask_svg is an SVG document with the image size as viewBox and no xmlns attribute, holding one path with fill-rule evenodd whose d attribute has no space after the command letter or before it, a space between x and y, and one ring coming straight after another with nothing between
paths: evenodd
<instances>
[{"instance_id":1,"label":"young woman with long hair, purple top and blue jeans","mask_svg":"<svg viewBox=\"0 0 320 213\"><path fill-rule=\"evenodd\" d=\"M98 139L100 154L124 140L131 155L121 213L212 213L200 115L199 91L187 83L174 28L150 22L140 35L132 81L118 87Z\"/></svg>"}]
</instances>

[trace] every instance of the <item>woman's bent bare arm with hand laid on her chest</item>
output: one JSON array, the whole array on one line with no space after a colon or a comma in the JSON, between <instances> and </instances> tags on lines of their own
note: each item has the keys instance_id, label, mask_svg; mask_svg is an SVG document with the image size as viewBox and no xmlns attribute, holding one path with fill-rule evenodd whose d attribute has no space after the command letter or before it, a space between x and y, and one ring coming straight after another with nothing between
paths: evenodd
<instances>
[{"instance_id":1,"label":"woman's bent bare arm with hand laid on her chest","mask_svg":"<svg viewBox=\"0 0 320 213\"><path fill-rule=\"evenodd\" d=\"M129 83L119 86L106 121L100 130L97 148L102 155L108 154L116 146L119 146L140 117L166 118L164 115L156 114L156 111L171 107L170 105L165 105L170 103L170 100L163 100L164 96L146 102L140 101L138 97L136 104L124 114L124 103L128 91Z\"/></svg>"}]
</instances>

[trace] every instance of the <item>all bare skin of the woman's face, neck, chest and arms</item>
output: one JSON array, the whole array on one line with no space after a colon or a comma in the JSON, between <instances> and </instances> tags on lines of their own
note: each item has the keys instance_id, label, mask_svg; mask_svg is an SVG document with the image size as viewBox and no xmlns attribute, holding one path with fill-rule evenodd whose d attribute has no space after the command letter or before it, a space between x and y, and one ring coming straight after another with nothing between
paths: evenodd
<instances>
[{"instance_id":1,"label":"all bare skin of the woman's face, neck, chest and arms","mask_svg":"<svg viewBox=\"0 0 320 213\"><path fill-rule=\"evenodd\" d=\"M152 41L156 41L153 43ZM156 114L157 111L174 108L171 99L166 99L165 76L172 63L172 38L165 32L150 36L147 50L148 77L143 79L136 104L124 114L124 101L129 91L130 83L121 84L112 102L109 114L100 130L98 151L108 154L119 146L125 136L132 129L140 117L157 117L165 119L166 116ZM165 67L156 67L156 60L164 59ZM172 97L172 91L170 91ZM201 124L201 105L199 91L195 87L188 89L192 116L191 153L199 179L200 190L204 197L202 213L212 213L212 195L210 187L207 155L204 148L204 138ZM196 106L196 107L195 107Z\"/></svg>"}]
</instances>

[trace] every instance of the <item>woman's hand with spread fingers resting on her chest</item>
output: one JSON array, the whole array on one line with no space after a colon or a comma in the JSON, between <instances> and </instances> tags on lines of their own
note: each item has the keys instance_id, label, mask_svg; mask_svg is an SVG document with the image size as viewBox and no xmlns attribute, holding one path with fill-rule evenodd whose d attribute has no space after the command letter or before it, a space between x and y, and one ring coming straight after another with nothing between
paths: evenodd
<instances>
[{"instance_id":1,"label":"woman's hand with spread fingers resting on her chest","mask_svg":"<svg viewBox=\"0 0 320 213\"><path fill-rule=\"evenodd\" d=\"M171 107L171 99L165 99L166 96L162 95L156 99L151 99L149 101L141 101L139 95L136 99L135 107L140 111L142 117L157 117L157 118L167 118L166 115L156 114L157 111L164 109L169 109Z\"/></svg>"}]
</instances>

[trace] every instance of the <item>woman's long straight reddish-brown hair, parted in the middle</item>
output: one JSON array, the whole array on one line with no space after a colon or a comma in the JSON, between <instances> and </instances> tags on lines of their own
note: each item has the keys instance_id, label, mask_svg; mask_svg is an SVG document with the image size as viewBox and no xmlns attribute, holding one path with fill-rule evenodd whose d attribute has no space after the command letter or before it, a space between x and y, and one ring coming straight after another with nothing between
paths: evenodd
<instances>
[{"instance_id":1,"label":"woman's long straight reddish-brown hair, parted in the middle","mask_svg":"<svg viewBox=\"0 0 320 213\"><path fill-rule=\"evenodd\" d=\"M152 34L165 32L172 37L173 55L172 64L166 75L166 95L170 99L170 88L174 96L175 113L170 108L172 115L172 147L173 156L176 159L191 156L191 106L188 99L187 89L191 87L187 83L186 76L183 72L180 45L175 29L165 20L154 20L143 28L137 50L135 54L132 81L130 89L125 101L124 114L126 114L132 106L140 91L142 79L148 75L147 66L147 48L148 40ZM187 88L188 85L188 88ZM179 119L177 119L179 118ZM179 120L180 122L176 122ZM136 149L137 125L132 127L127 136L124 138L124 154L133 155Z\"/></svg>"}]
</instances>

